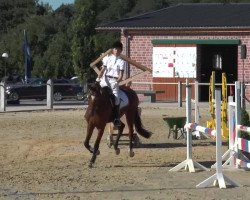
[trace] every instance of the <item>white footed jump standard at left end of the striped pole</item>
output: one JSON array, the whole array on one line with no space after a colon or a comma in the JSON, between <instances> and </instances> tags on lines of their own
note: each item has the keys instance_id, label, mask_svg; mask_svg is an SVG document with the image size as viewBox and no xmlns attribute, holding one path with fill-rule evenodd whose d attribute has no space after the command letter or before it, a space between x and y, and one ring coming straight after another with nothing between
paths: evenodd
<instances>
[{"instance_id":1,"label":"white footed jump standard at left end of the striped pole","mask_svg":"<svg viewBox=\"0 0 250 200\"><path fill-rule=\"evenodd\" d=\"M186 124L189 124L191 122L191 86L189 85L188 79L186 80L186 116L187 121ZM194 161L192 159L192 134L189 128L186 128L187 131L187 159L178 164L177 166L173 167L169 171L179 171L182 168L185 168L185 170L189 170L189 172L195 172L195 167L199 168L201 170L208 169L204 167L203 165L199 164L198 162Z\"/></svg>"}]
</instances>

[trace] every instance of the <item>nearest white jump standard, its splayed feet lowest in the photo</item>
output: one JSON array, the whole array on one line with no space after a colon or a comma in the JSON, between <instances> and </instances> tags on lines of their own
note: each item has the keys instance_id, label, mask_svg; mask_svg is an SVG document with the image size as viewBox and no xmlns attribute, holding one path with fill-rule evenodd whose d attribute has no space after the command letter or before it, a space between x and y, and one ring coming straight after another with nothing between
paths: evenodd
<instances>
[{"instance_id":1,"label":"nearest white jump standard, its splayed feet lowest in the photo","mask_svg":"<svg viewBox=\"0 0 250 200\"><path fill-rule=\"evenodd\" d=\"M213 184L214 186L226 188L226 182L233 186L240 186L238 183L232 181L222 173L222 153L221 153L221 91L215 90L215 116L216 116L216 173L208 179L202 181L197 188L205 188Z\"/></svg>"}]
</instances>

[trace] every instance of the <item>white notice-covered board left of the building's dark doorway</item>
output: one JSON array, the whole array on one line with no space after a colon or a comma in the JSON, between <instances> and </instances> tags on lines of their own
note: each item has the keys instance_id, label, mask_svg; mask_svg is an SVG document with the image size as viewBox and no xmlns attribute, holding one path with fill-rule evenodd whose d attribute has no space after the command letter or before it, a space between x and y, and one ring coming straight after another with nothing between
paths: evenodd
<instances>
[{"instance_id":1,"label":"white notice-covered board left of the building's dark doorway","mask_svg":"<svg viewBox=\"0 0 250 200\"><path fill-rule=\"evenodd\" d=\"M196 47L154 47L153 77L196 78Z\"/></svg>"}]
</instances>

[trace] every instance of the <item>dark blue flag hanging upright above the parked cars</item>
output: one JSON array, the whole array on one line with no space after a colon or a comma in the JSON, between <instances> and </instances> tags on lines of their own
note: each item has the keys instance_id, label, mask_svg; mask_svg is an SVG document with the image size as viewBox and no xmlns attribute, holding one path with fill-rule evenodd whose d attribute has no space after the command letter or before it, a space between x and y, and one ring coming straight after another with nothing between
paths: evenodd
<instances>
[{"instance_id":1,"label":"dark blue flag hanging upright above the parked cars","mask_svg":"<svg viewBox=\"0 0 250 200\"><path fill-rule=\"evenodd\" d=\"M24 79L27 83L31 77L31 56L30 56L30 46L28 42L28 37L26 31L24 30Z\"/></svg>"}]
</instances>

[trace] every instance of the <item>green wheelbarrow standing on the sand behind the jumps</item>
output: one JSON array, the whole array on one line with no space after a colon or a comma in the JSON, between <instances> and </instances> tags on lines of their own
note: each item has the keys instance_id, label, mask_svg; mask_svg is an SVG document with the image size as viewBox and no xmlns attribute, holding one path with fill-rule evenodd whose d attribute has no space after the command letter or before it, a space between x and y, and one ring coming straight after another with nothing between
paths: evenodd
<instances>
[{"instance_id":1,"label":"green wheelbarrow standing on the sand behind the jumps","mask_svg":"<svg viewBox=\"0 0 250 200\"><path fill-rule=\"evenodd\" d=\"M168 138L173 134L173 139L186 138L186 131L184 126L186 124L186 117L166 117L163 115L163 120L169 127ZM178 136L178 134L180 134Z\"/></svg>"}]
</instances>

